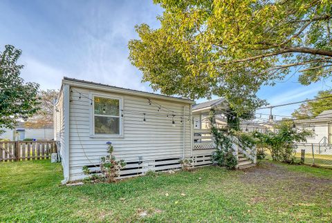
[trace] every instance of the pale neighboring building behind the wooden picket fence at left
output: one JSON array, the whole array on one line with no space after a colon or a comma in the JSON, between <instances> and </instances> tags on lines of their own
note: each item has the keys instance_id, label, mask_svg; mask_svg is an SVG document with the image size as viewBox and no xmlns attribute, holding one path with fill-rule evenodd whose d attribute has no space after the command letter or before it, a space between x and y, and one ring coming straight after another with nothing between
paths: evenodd
<instances>
[{"instance_id":1,"label":"pale neighboring building behind the wooden picket fence at left","mask_svg":"<svg viewBox=\"0 0 332 223\"><path fill-rule=\"evenodd\" d=\"M24 139L53 139L53 126L44 126L42 128L26 128L24 122L13 128L4 128L4 133L0 135L0 139L9 139L12 141L24 140Z\"/></svg>"}]
</instances>

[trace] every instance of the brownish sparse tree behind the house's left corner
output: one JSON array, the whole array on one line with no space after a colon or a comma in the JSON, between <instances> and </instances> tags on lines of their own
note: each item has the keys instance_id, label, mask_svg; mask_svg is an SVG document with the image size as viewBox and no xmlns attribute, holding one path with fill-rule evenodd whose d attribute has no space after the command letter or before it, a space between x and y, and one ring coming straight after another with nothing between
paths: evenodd
<instances>
[{"instance_id":1,"label":"brownish sparse tree behind the house's left corner","mask_svg":"<svg viewBox=\"0 0 332 223\"><path fill-rule=\"evenodd\" d=\"M42 128L53 124L53 104L58 94L59 91L54 89L41 90L38 93L39 110L33 117L28 119L28 122L25 124L26 128Z\"/></svg>"}]
</instances>

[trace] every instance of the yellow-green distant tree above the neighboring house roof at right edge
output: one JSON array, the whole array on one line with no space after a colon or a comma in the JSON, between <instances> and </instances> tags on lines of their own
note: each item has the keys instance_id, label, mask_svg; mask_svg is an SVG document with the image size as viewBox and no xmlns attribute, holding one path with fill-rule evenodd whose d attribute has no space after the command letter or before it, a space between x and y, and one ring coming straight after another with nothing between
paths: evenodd
<instances>
[{"instance_id":1,"label":"yellow-green distant tree above the neighboring house roof at right edge","mask_svg":"<svg viewBox=\"0 0 332 223\"><path fill-rule=\"evenodd\" d=\"M322 90L318 92L315 99L318 100L302 103L299 108L292 113L292 116L302 119L320 115L324 110L332 110L332 90Z\"/></svg>"}]
</instances>

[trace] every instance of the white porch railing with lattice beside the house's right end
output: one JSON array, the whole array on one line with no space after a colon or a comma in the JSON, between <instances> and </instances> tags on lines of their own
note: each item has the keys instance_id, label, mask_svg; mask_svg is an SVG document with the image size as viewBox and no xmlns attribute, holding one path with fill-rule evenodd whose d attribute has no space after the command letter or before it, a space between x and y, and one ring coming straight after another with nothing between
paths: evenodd
<instances>
[{"instance_id":1,"label":"white porch railing with lattice beside the house's right end","mask_svg":"<svg viewBox=\"0 0 332 223\"><path fill-rule=\"evenodd\" d=\"M194 150L212 149L214 142L209 129L194 129Z\"/></svg>"}]
</instances>

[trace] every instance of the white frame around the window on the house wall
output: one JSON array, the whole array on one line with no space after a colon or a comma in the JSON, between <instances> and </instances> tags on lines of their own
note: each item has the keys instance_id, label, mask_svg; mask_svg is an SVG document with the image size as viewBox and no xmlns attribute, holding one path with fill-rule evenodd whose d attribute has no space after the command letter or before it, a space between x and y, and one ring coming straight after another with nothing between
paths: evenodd
<instances>
[{"instance_id":1,"label":"white frame around the window on the house wall","mask_svg":"<svg viewBox=\"0 0 332 223\"><path fill-rule=\"evenodd\" d=\"M119 116L114 115L98 115L103 117L119 117L119 134L109 134L109 135L99 135L95 134L95 97L104 97L107 99L117 99L119 100ZM90 93L90 98L92 99L92 106L90 109L90 137L92 138L121 138L123 137L123 119L121 114L123 114L123 97L119 97L118 95L111 95L111 94L99 94L99 93Z\"/></svg>"}]
</instances>

